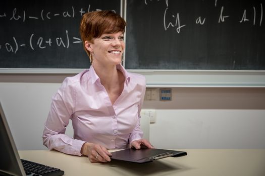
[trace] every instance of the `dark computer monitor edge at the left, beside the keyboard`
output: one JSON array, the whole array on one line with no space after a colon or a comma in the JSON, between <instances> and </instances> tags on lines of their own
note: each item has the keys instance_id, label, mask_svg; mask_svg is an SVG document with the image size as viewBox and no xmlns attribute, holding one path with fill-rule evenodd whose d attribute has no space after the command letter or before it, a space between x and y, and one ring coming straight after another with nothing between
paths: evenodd
<instances>
[{"instance_id":1,"label":"dark computer monitor edge at the left, beside the keyboard","mask_svg":"<svg viewBox=\"0 0 265 176\"><path fill-rule=\"evenodd\" d=\"M0 175L26 175L0 103Z\"/></svg>"}]
</instances>

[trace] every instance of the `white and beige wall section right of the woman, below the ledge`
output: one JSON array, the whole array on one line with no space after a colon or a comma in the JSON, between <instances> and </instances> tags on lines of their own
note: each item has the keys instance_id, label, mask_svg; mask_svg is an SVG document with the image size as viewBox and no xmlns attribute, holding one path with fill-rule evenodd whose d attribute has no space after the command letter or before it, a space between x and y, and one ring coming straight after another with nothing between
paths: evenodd
<instances>
[{"instance_id":1,"label":"white and beige wall section right of the woman, below the ledge","mask_svg":"<svg viewBox=\"0 0 265 176\"><path fill-rule=\"evenodd\" d=\"M156 109L150 141L162 148L265 148L265 89L175 88Z\"/></svg>"}]
</instances>

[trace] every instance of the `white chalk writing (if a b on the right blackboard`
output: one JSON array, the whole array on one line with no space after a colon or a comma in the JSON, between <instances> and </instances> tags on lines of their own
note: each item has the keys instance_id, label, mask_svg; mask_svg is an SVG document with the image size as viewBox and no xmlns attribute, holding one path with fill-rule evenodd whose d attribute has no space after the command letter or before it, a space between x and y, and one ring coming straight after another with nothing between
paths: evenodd
<instances>
[{"instance_id":1,"label":"white chalk writing (if a b on the right blackboard","mask_svg":"<svg viewBox=\"0 0 265 176\"><path fill-rule=\"evenodd\" d=\"M152 0L144 0L144 4L146 6L148 6L148 4L151 3L151 1ZM160 0L156 0L156 1L158 2ZM168 10L170 8L169 0L165 0L165 3L166 3L166 8L164 10L164 18L163 18L164 29L165 29L165 31L167 31L169 28L174 28L174 29L176 29L177 33L180 33L181 28L185 27L186 24L181 23L181 14L180 13L170 14L168 12ZM215 0L214 7L217 8L217 11L219 11L219 14L220 14L219 19L217 19L218 23L225 23L225 21L231 17L229 14L227 14L226 7L221 6L219 8L218 0ZM259 14L257 14L256 9L259 9L259 11L258 11ZM251 14L251 16L253 16L252 19L250 19L250 15L247 16L247 12L248 12L248 14L251 14L251 13L253 14L253 15ZM263 18L263 6L262 6L262 3L260 3L258 7L253 6L251 11L250 10L247 11L246 9L244 9L242 11L241 18L238 19L238 23L246 23L246 22L252 21L252 25L254 25L254 26L258 25L260 27L262 24L262 18ZM194 23L198 24L198 25L204 25L205 23L207 23L207 19L205 17L198 16L194 19Z\"/></svg>"}]
</instances>

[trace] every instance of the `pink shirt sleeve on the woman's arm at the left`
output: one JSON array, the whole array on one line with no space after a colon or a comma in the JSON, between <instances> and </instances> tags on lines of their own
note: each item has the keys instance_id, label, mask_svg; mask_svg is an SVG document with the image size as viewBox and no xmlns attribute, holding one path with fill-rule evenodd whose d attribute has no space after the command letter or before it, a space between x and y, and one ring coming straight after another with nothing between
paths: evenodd
<instances>
[{"instance_id":1,"label":"pink shirt sleeve on the woman's arm at the left","mask_svg":"<svg viewBox=\"0 0 265 176\"><path fill-rule=\"evenodd\" d=\"M85 141L65 135L66 127L75 108L75 87L66 78L52 97L50 111L43 130L43 144L49 150L55 149L67 154L79 155Z\"/></svg>"}]
</instances>

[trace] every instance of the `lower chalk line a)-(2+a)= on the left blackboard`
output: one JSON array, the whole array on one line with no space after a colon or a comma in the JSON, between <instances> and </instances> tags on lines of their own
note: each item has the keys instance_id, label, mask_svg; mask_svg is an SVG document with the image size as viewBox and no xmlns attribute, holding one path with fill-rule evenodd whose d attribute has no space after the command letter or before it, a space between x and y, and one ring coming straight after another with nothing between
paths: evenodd
<instances>
[{"instance_id":1,"label":"lower chalk line a)-(2+a)= on the left blackboard","mask_svg":"<svg viewBox=\"0 0 265 176\"><path fill-rule=\"evenodd\" d=\"M0 50L6 50L7 52L11 52L16 54L20 48L29 47L31 50L35 50L36 48L44 49L52 46L69 48L71 44L82 43L81 39L78 37L69 38L68 30L65 30L65 36L58 36L55 38L44 38L41 36L36 36L32 33L28 37L27 43L20 43L16 37L13 36L12 41L4 43L4 45L0 45Z\"/></svg>"}]
</instances>

